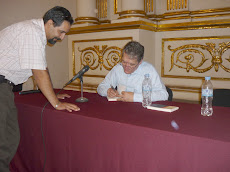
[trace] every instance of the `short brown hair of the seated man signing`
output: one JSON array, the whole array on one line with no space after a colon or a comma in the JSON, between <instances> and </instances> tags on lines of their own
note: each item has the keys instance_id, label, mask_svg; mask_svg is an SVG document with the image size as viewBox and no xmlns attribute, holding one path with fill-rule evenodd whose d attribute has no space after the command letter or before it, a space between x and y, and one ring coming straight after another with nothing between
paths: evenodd
<instances>
[{"instance_id":1,"label":"short brown hair of the seated man signing","mask_svg":"<svg viewBox=\"0 0 230 172\"><path fill-rule=\"evenodd\" d=\"M139 42L130 41L124 46L122 56L124 53L129 55L130 58L137 59L137 61L140 62L144 57L144 46Z\"/></svg>"}]
</instances>

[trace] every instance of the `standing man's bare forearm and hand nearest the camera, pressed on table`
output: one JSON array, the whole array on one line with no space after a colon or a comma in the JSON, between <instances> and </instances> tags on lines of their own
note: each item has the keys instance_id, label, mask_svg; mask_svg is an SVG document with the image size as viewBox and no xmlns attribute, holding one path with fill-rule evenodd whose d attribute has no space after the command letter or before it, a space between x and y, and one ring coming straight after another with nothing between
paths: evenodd
<instances>
[{"instance_id":1,"label":"standing man's bare forearm and hand nearest the camera, pressed on table","mask_svg":"<svg viewBox=\"0 0 230 172\"><path fill-rule=\"evenodd\" d=\"M48 99L48 101L54 108L56 108L56 105L58 105L58 107L56 108L58 110L66 109L69 112L72 112L72 110L80 110L79 107L74 104L64 102L62 103L58 100L56 94L54 93L50 76L47 70L32 69L32 72L39 89L42 91L44 96Z\"/></svg>"}]
</instances>

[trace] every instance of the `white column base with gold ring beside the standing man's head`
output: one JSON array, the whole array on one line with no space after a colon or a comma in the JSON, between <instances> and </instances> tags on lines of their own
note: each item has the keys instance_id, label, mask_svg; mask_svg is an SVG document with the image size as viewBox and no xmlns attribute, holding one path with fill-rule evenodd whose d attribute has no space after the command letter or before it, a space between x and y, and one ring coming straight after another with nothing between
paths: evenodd
<instances>
[{"instance_id":1,"label":"white column base with gold ring beside the standing man's head","mask_svg":"<svg viewBox=\"0 0 230 172\"><path fill-rule=\"evenodd\" d=\"M76 0L77 18L75 24L98 24L96 0Z\"/></svg>"}]
</instances>

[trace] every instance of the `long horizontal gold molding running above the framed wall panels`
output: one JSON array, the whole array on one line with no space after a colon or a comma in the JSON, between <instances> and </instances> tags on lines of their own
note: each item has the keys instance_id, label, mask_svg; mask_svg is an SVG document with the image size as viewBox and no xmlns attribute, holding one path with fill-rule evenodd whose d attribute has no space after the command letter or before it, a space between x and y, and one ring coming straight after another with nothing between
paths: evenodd
<instances>
[{"instance_id":1,"label":"long horizontal gold molding running above the framed wall panels","mask_svg":"<svg viewBox=\"0 0 230 172\"><path fill-rule=\"evenodd\" d=\"M123 23L103 24L86 27L74 27L70 29L67 35L105 32L105 31L118 31L129 29L143 29L153 32L166 32L166 31L181 31L181 30L200 30L200 29L215 29L215 28L230 28L230 19L216 20L216 21L196 21L185 22L176 24L155 24L147 21L130 21Z\"/></svg>"}]
</instances>

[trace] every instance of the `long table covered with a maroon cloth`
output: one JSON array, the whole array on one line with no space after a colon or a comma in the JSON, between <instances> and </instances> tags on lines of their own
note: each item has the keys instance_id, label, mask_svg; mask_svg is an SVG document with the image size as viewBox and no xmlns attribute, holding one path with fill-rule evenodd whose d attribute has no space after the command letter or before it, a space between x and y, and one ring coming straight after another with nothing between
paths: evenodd
<instances>
[{"instance_id":1,"label":"long table covered with a maroon cloth","mask_svg":"<svg viewBox=\"0 0 230 172\"><path fill-rule=\"evenodd\" d=\"M64 90L75 103L80 92ZM229 172L230 108L213 107L211 117L200 115L200 105L179 106L169 113L145 109L141 103L108 102L84 93L78 112L43 112L46 172ZM44 149L41 93L15 93L21 140L10 164L12 172L41 172ZM179 129L171 126L174 120Z\"/></svg>"}]
</instances>

